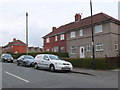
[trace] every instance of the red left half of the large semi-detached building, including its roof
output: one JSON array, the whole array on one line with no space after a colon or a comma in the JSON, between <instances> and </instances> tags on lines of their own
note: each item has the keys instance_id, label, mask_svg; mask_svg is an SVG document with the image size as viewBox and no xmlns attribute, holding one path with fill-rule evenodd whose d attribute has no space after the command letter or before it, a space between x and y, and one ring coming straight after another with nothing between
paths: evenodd
<instances>
[{"instance_id":1,"label":"red left half of the large semi-detached building, including its roof","mask_svg":"<svg viewBox=\"0 0 120 90\"><path fill-rule=\"evenodd\" d=\"M53 27L52 32L44 36L44 51L66 52L65 27Z\"/></svg>"}]
</instances>

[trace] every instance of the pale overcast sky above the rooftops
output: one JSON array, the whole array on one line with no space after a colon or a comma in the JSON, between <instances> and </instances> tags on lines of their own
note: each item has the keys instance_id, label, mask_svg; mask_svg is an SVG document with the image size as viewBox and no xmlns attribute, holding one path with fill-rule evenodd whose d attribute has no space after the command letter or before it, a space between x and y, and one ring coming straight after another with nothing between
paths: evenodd
<instances>
[{"instance_id":1,"label":"pale overcast sky above the rooftops","mask_svg":"<svg viewBox=\"0 0 120 90\"><path fill-rule=\"evenodd\" d=\"M118 18L119 0L93 0L93 14ZM74 21L76 13L90 16L89 0L0 0L0 46L13 38L25 42L25 13L29 14L29 46L43 46L52 27Z\"/></svg>"}]
</instances>

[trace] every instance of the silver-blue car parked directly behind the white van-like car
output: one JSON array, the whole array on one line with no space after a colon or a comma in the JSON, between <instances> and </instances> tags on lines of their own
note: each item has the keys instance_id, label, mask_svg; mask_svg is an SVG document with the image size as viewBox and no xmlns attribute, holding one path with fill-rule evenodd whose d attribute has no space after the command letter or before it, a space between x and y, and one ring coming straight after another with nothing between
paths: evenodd
<instances>
[{"instance_id":1,"label":"silver-blue car parked directly behind the white van-like car","mask_svg":"<svg viewBox=\"0 0 120 90\"><path fill-rule=\"evenodd\" d=\"M34 57L30 55L22 55L17 59L17 65L33 66Z\"/></svg>"}]
</instances>

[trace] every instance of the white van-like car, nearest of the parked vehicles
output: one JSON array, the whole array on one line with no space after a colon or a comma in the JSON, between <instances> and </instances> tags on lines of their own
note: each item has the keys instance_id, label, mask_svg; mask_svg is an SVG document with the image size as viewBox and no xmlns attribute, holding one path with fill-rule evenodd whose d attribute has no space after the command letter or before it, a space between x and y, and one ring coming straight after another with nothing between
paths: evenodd
<instances>
[{"instance_id":1,"label":"white van-like car, nearest of the parked vehicles","mask_svg":"<svg viewBox=\"0 0 120 90\"><path fill-rule=\"evenodd\" d=\"M50 71L71 71L73 66L70 62L60 59L56 55L52 54L38 54L35 57L34 68L44 68Z\"/></svg>"}]
</instances>

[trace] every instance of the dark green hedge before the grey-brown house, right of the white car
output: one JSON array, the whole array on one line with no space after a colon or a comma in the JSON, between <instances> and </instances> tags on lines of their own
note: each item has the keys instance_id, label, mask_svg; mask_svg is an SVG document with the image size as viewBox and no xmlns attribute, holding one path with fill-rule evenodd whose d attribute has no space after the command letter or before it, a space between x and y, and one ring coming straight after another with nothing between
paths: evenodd
<instances>
[{"instance_id":1,"label":"dark green hedge before the grey-brown house, right of the white car","mask_svg":"<svg viewBox=\"0 0 120 90\"><path fill-rule=\"evenodd\" d=\"M78 68L93 68L92 58L64 58L64 60L69 61L73 64L74 67ZM118 68L117 65L108 66L108 61L106 58L96 58L95 59L95 68L100 70L114 69Z\"/></svg>"}]
</instances>

